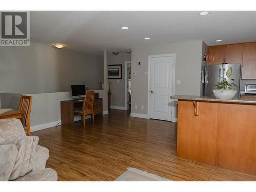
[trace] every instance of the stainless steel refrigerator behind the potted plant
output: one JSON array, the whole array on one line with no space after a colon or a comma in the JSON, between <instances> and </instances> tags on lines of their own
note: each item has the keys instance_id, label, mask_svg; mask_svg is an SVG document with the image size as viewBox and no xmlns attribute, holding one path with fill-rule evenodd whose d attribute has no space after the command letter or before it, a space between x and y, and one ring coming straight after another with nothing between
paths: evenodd
<instances>
[{"instance_id":1,"label":"stainless steel refrigerator behind the potted plant","mask_svg":"<svg viewBox=\"0 0 256 192\"><path fill-rule=\"evenodd\" d=\"M218 82L222 82L223 78L227 78L226 72L229 68L232 68L232 75L229 78L234 79L228 80L228 82L236 83L238 88L233 86L232 89L237 90L236 96L240 96L240 79L241 79L241 68L242 65L238 64L220 64L220 65L210 65L205 66L205 82L204 82L204 95L213 96L212 92L217 89L215 86ZM228 78L227 78L228 79Z\"/></svg>"}]
</instances>

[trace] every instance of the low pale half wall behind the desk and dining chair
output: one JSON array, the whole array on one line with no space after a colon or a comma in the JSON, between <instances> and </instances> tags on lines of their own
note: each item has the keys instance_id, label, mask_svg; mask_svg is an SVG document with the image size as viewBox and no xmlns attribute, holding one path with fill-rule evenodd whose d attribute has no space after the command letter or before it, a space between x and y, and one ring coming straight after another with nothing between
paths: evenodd
<instances>
[{"instance_id":1,"label":"low pale half wall behind the desk and dining chair","mask_svg":"<svg viewBox=\"0 0 256 192\"><path fill-rule=\"evenodd\" d=\"M102 98L103 115L108 114L108 91L94 90ZM60 122L60 101L72 99L71 92L24 94L32 96L31 131L55 126ZM21 94L0 93L0 108L18 109ZM79 120L80 117L76 118Z\"/></svg>"}]
</instances>

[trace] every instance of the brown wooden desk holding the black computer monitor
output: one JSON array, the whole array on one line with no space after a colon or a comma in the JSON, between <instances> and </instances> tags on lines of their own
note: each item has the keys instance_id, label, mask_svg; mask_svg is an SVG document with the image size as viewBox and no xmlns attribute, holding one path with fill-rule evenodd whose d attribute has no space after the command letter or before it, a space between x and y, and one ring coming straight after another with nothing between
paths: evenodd
<instances>
[{"instance_id":1,"label":"brown wooden desk holding the black computer monitor","mask_svg":"<svg viewBox=\"0 0 256 192\"><path fill-rule=\"evenodd\" d=\"M74 109L82 108L83 101L75 99L60 101L61 124L65 126L74 126ZM102 98L94 99L93 103L94 116L102 117Z\"/></svg>"}]
</instances>

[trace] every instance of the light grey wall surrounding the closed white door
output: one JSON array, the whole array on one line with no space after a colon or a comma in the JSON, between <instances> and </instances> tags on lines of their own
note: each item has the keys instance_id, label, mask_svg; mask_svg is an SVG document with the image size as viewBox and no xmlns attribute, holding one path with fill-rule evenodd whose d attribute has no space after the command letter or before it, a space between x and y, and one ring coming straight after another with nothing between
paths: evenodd
<instances>
[{"instance_id":1,"label":"light grey wall surrounding the closed white door","mask_svg":"<svg viewBox=\"0 0 256 192\"><path fill-rule=\"evenodd\" d=\"M148 71L149 55L175 53L175 94L200 95L202 44L202 40L196 40L132 49L132 73L136 72L131 77L132 113L147 114L148 76L144 72ZM176 84L177 80L181 80L181 84Z\"/></svg>"}]
</instances>

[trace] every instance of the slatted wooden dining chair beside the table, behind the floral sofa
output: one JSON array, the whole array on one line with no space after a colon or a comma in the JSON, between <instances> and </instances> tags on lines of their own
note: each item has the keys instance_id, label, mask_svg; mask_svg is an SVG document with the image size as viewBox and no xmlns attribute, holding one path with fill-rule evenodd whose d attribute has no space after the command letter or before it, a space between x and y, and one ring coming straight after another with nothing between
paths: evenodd
<instances>
[{"instance_id":1,"label":"slatted wooden dining chair beside the table, behind the floral sofa","mask_svg":"<svg viewBox=\"0 0 256 192\"><path fill-rule=\"evenodd\" d=\"M27 133L28 136L31 136L30 124L29 124L31 105L32 105L32 96L22 95L20 97L18 111L23 112L22 118L20 119L20 121L22 121L25 133Z\"/></svg>"}]
</instances>

